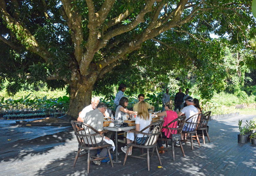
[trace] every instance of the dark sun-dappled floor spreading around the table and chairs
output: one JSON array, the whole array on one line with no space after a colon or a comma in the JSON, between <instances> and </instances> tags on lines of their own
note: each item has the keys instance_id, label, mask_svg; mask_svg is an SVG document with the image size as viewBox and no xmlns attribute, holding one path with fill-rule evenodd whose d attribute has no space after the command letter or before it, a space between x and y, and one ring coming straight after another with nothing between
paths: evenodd
<instances>
[{"instance_id":1,"label":"dark sun-dappled floor spreading around the table and chairs","mask_svg":"<svg viewBox=\"0 0 256 176\"><path fill-rule=\"evenodd\" d=\"M253 117L254 115L237 115L210 121L210 143L206 138L204 145L200 139L201 147L194 142L194 150L189 143L183 145L185 157L180 148L175 148L175 161L172 160L171 152L160 155L163 166L161 169L157 167L160 165L156 156L150 159L150 171L147 171L147 161L142 159L128 157L123 166L125 154L120 153L122 163L114 164L114 167L107 163L101 163L100 166L91 163L89 174L86 157L80 157L73 168L77 140L71 127L54 127L50 133L45 134L41 133L41 127L22 127L26 130L16 133L16 129L21 127L2 125L0 122L0 176L255 176L255 146L237 143L238 119L245 121ZM25 134L29 137L23 139ZM118 145L118 151L122 152L122 146L122 143ZM112 150L111 152L114 153ZM132 152L140 153L136 148Z\"/></svg>"}]
</instances>

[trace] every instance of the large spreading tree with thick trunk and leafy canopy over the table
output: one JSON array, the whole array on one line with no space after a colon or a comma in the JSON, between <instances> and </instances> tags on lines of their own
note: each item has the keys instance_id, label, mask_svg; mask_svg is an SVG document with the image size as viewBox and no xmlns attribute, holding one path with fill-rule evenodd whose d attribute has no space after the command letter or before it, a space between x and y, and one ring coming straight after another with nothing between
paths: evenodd
<instances>
[{"instance_id":1,"label":"large spreading tree with thick trunk and leafy canopy over the table","mask_svg":"<svg viewBox=\"0 0 256 176\"><path fill-rule=\"evenodd\" d=\"M251 47L249 41L255 36L256 26L251 2L0 0L0 46L4 48L1 80L68 84L68 114L76 116L89 104L95 83L106 80L113 69L126 63L124 60L133 61L131 55L140 62L138 67L160 75L161 70L152 69L148 63L159 63L167 71L173 68L168 64L173 58L180 65L190 61L197 66L203 64L196 62L202 58L198 51L207 57L205 48L211 45L211 32L228 34L231 42ZM162 48L157 55L152 49L159 49L159 45L169 50ZM220 51L214 46L209 48L211 56L219 59ZM172 57L158 58L159 52ZM150 57L152 53L156 55ZM207 82L202 86L207 89Z\"/></svg>"}]
</instances>

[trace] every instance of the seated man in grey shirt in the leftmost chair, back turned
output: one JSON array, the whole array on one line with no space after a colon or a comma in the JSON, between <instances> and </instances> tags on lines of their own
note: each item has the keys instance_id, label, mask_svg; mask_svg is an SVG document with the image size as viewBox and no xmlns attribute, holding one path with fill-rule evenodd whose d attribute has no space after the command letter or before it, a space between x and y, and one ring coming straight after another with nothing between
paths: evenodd
<instances>
[{"instance_id":1,"label":"seated man in grey shirt in the leftmost chair, back turned","mask_svg":"<svg viewBox=\"0 0 256 176\"><path fill-rule=\"evenodd\" d=\"M103 113L106 111L106 104L101 102L98 104L97 109L93 110L93 111L89 111L86 113L86 116L84 117L84 123L87 125L90 125L91 127L93 127L94 129L96 129L97 131L103 131ZM89 129L89 128L85 128L86 133L89 134L93 134L95 133L95 131ZM98 134L95 136L95 138L91 138L91 140L93 141L93 143L97 143L98 146L101 145L101 137L102 134ZM108 137L105 136L105 139L110 140ZM92 144L92 141L90 139L88 139L88 143ZM87 140L84 141L86 144ZM103 141L102 145L106 145L107 143L105 141ZM109 147L109 149L111 149L111 146ZM91 150L90 151L90 155L96 156L97 154L97 150ZM98 158L101 157L105 157L108 154L108 149L106 148L102 148L102 150L100 151L100 154L97 155ZM93 161L94 164L96 165L100 165L100 161Z\"/></svg>"}]
</instances>

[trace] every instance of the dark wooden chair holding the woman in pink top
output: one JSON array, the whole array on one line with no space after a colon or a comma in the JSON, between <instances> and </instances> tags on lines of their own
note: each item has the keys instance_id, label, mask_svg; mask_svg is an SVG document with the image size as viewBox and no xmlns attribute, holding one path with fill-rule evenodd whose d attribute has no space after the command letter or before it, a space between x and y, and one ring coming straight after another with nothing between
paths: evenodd
<instances>
[{"instance_id":1,"label":"dark wooden chair holding the woman in pink top","mask_svg":"<svg viewBox=\"0 0 256 176\"><path fill-rule=\"evenodd\" d=\"M168 125L163 127L163 128L168 130L166 137L163 138L162 134L160 134L160 136L158 137L158 140L165 141L165 144L166 144L165 148L161 148L161 149L158 148L158 150L167 150L167 151L168 150L172 150L173 161L174 161L174 147L180 147L181 151L182 151L182 154L185 157L185 153L184 153L183 147L181 145L181 141L179 141L180 142L180 146L174 145L175 141L172 141L172 134L180 134L181 135L182 129L183 129L184 124L185 124L185 121L186 121L186 116L185 115L180 116L180 117L174 119ZM169 138L168 138L168 136L169 136ZM172 146L167 147L169 141L172 142Z\"/></svg>"}]
</instances>

